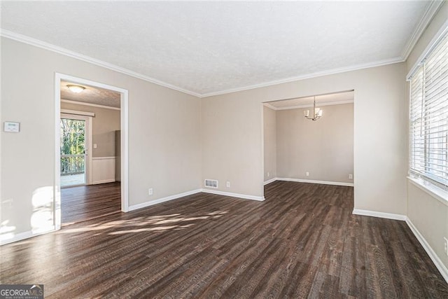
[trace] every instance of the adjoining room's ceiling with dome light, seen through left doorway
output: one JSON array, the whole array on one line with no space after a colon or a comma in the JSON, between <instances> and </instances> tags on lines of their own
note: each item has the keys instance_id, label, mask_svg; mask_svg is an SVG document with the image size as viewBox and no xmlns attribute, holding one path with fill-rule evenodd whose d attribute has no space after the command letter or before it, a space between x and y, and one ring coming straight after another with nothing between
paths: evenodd
<instances>
[{"instance_id":1,"label":"adjoining room's ceiling with dome light, seen through left doorway","mask_svg":"<svg viewBox=\"0 0 448 299\"><path fill-rule=\"evenodd\" d=\"M67 88L67 85L70 84L81 85L85 90L80 93L72 92ZM120 97L120 92L113 92L103 88L94 88L85 84L61 81L61 99L120 108Z\"/></svg>"}]
</instances>

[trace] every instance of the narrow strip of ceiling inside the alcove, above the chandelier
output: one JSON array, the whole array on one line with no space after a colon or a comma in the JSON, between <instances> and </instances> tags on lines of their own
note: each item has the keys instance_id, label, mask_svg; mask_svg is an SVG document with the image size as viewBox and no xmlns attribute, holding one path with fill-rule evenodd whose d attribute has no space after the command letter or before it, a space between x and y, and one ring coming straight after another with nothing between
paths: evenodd
<instances>
[{"instance_id":1,"label":"narrow strip of ceiling inside the alcove, above the chandelier","mask_svg":"<svg viewBox=\"0 0 448 299\"><path fill-rule=\"evenodd\" d=\"M337 92L331 95L316 95L316 106L328 106L335 104L346 104L353 102L355 92ZM267 102L267 106L274 110L302 108L313 106L314 97L300 97L297 99L283 99L280 101Z\"/></svg>"}]
</instances>

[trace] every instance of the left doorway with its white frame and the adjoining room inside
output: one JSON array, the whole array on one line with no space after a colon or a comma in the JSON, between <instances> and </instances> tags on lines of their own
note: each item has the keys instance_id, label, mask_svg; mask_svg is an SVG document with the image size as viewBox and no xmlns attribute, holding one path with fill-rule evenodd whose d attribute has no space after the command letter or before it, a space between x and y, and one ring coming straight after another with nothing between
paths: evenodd
<instances>
[{"instance_id":1,"label":"left doorway with its white frame and the adjoining room inside","mask_svg":"<svg viewBox=\"0 0 448 299\"><path fill-rule=\"evenodd\" d=\"M128 211L127 90L56 74L55 107L56 229Z\"/></svg>"}]
</instances>

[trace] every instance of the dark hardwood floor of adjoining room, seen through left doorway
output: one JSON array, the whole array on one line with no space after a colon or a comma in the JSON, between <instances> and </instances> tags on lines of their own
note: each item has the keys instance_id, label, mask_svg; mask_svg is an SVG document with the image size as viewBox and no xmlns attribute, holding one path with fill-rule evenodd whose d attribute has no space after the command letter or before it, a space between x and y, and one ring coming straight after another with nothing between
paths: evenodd
<instances>
[{"instance_id":1,"label":"dark hardwood floor of adjoining room, seen through left doorway","mask_svg":"<svg viewBox=\"0 0 448 299\"><path fill-rule=\"evenodd\" d=\"M120 182L61 189L62 225L121 211Z\"/></svg>"}]
</instances>

